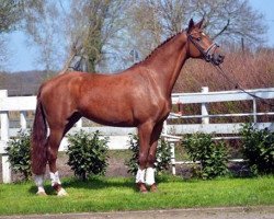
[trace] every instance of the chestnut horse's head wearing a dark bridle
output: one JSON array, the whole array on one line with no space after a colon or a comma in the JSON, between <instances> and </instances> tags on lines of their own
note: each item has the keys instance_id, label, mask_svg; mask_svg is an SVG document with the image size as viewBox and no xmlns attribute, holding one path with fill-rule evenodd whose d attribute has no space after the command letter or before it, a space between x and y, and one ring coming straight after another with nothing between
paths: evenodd
<instances>
[{"instance_id":1,"label":"chestnut horse's head wearing a dark bridle","mask_svg":"<svg viewBox=\"0 0 274 219\"><path fill-rule=\"evenodd\" d=\"M218 51L218 45L214 43L202 28L203 20L194 24L190 21L187 27L189 54L193 58L203 58L215 66L224 61L225 56Z\"/></svg>"}]
</instances>

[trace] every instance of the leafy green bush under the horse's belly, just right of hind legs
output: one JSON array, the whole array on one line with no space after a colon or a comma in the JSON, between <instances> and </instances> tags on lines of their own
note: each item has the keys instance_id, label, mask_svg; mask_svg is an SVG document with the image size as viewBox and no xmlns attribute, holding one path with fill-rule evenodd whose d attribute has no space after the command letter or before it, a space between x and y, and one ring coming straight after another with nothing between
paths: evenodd
<instances>
[{"instance_id":1,"label":"leafy green bush under the horse's belly, just right of hind legs","mask_svg":"<svg viewBox=\"0 0 274 219\"><path fill-rule=\"evenodd\" d=\"M75 175L82 181L88 175L104 175L107 163L107 141L96 130L94 134L88 134L83 130L68 136L69 155L68 164L75 171Z\"/></svg>"}]
</instances>

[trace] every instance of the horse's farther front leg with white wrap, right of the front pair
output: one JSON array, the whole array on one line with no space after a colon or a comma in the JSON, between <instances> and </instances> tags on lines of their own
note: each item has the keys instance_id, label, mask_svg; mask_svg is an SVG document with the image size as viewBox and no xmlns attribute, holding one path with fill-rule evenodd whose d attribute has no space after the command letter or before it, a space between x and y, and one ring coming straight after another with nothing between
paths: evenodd
<instances>
[{"instance_id":1,"label":"horse's farther front leg with white wrap, right of the front pair","mask_svg":"<svg viewBox=\"0 0 274 219\"><path fill-rule=\"evenodd\" d=\"M150 186L151 192L157 192L157 184L155 180L155 163L156 163L156 152L158 147L158 140L162 131L163 123L159 123L155 126L151 134L151 146L148 153L148 164L146 171L146 184Z\"/></svg>"}]
</instances>

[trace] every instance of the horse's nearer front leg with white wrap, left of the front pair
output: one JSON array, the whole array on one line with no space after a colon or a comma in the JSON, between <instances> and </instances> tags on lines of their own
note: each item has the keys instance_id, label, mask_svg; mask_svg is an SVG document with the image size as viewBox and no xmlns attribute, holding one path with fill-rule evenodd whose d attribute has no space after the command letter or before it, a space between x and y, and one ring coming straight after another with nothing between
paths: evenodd
<instances>
[{"instance_id":1,"label":"horse's nearer front leg with white wrap, left of the front pair","mask_svg":"<svg viewBox=\"0 0 274 219\"><path fill-rule=\"evenodd\" d=\"M150 148L150 138L153 129L153 124L146 123L138 127L139 136L139 168L136 174L136 185L141 193L147 193L145 174L147 168L148 152Z\"/></svg>"}]
</instances>

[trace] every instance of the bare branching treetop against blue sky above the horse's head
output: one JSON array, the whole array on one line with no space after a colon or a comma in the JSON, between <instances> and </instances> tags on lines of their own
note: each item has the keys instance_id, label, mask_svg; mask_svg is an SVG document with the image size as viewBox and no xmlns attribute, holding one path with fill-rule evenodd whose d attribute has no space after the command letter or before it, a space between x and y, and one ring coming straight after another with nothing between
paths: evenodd
<instances>
[{"instance_id":1,"label":"bare branching treetop against blue sky above the horse's head","mask_svg":"<svg viewBox=\"0 0 274 219\"><path fill-rule=\"evenodd\" d=\"M263 43L267 26L263 14L253 10L248 0L190 0L190 10L205 19L205 28L213 38L221 37Z\"/></svg>"}]
</instances>

